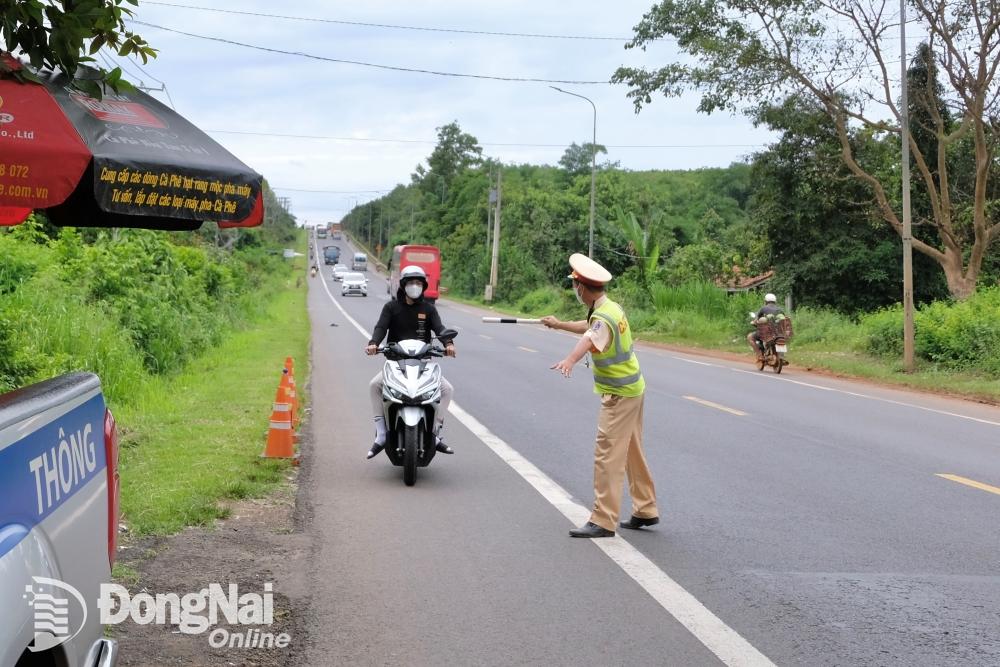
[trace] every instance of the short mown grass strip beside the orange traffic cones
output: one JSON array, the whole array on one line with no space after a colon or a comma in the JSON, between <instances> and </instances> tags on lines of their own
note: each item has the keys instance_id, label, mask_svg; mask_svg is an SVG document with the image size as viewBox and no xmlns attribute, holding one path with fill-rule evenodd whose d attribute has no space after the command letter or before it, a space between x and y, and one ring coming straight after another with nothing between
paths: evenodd
<instances>
[{"instance_id":1,"label":"short mown grass strip beside the orange traffic cones","mask_svg":"<svg viewBox=\"0 0 1000 667\"><path fill-rule=\"evenodd\" d=\"M122 520L133 535L210 524L226 516L220 501L261 496L284 478L287 461L259 455L285 357L295 360L300 404L305 399L309 323L300 263L250 327L115 409Z\"/></svg>"}]
</instances>

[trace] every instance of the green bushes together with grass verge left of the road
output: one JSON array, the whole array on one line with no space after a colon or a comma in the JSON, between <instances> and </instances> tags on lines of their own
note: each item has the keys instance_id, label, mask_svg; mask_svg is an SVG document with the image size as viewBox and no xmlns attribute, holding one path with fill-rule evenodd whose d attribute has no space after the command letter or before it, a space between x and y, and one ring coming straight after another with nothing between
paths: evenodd
<instances>
[{"instance_id":1,"label":"green bushes together with grass verge left of the road","mask_svg":"<svg viewBox=\"0 0 1000 667\"><path fill-rule=\"evenodd\" d=\"M257 229L0 230L0 391L87 370L122 446L122 520L170 533L258 496L287 463L261 461L285 357L307 380L305 250L265 191Z\"/></svg>"}]
</instances>

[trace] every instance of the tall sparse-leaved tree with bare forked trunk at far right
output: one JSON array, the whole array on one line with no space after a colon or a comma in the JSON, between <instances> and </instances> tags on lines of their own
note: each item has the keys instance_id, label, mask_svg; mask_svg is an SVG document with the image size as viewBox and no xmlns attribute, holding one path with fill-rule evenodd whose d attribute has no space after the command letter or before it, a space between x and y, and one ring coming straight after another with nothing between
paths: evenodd
<instances>
[{"instance_id":1,"label":"tall sparse-leaved tree with bare forked trunk at far right","mask_svg":"<svg viewBox=\"0 0 1000 667\"><path fill-rule=\"evenodd\" d=\"M997 156L994 126L1000 124L1000 4L909 5L936 65L925 77L928 94L912 97L923 112L920 122L935 138L928 143L915 133L909 142L931 213L927 231L917 228L913 247L937 262L953 296L965 298L975 291L985 254L1000 237L1000 220L987 206ZM891 70L898 21L884 0L664 0L642 18L628 47L672 36L694 63L685 59L653 71L623 67L612 79L631 86L628 96L637 110L654 93L676 97L689 90L701 91L699 110L706 113L757 116L790 95L818 102L836 129L844 164L874 197L882 219L902 235L898 166L896 174L871 169L851 141L857 128L877 137L900 134ZM937 70L946 81L940 95ZM942 103L950 114L941 112ZM963 141L972 149L964 156L958 149ZM967 198L951 179L956 161L973 175ZM962 220L969 221L967 235L960 233Z\"/></svg>"}]
</instances>

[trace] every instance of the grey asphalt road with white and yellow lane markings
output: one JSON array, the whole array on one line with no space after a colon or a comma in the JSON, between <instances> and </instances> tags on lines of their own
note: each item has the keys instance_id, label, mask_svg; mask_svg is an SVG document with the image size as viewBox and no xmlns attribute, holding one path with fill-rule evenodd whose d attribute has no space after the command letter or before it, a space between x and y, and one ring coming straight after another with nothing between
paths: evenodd
<instances>
[{"instance_id":1,"label":"grey asphalt road with white and yellow lane markings","mask_svg":"<svg viewBox=\"0 0 1000 667\"><path fill-rule=\"evenodd\" d=\"M598 399L549 370L574 338L439 302L457 453L405 487L364 458L382 358L349 319L371 330L385 282L342 298L329 273L308 664L1000 664L1000 410L640 345L662 520L575 540Z\"/></svg>"}]
</instances>

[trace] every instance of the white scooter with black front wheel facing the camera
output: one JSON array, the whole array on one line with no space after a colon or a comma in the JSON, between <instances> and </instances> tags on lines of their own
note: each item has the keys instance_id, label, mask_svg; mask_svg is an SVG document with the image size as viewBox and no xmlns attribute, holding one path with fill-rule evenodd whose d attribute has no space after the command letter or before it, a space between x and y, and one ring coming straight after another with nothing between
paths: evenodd
<instances>
[{"instance_id":1,"label":"white scooter with black front wheel facing the camera","mask_svg":"<svg viewBox=\"0 0 1000 667\"><path fill-rule=\"evenodd\" d=\"M447 343L458 335L445 329L438 340ZM430 361L443 357L444 348L422 340L401 340L380 345L382 414L385 416L385 453L393 465L403 466L403 483L417 482L417 468L426 467L437 451L434 424L441 405L441 367Z\"/></svg>"}]
</instances>

